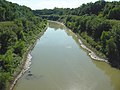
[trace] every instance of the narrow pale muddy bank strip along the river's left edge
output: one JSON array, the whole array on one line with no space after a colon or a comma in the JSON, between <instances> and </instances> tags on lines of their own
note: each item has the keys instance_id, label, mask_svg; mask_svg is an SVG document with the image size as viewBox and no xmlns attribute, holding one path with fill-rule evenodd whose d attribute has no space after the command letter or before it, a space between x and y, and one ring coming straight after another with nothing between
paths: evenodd
<instances>
[{"instance_id":1,"label":"narrow pale muddy bank strip along the river's left edge","mask_svg":"<svg viewBox=\"0 0 120 90\"><path fill-rule=\"evenodd\" d=\"M20 77L30 68L31 59L32 59L31 50L35 47L37 40L44 34L48 25L49 24L47 23L46 27L36 36L34 43L32 43L27 48L27 51L23 55L22 62L20 64L20 66L18 67L19 70L15 72L16 74L14 75L13 82L10 82L9 90L13 90L14 86L16 85L16 83L20 79Z\"/></svg>"}]
</instances>

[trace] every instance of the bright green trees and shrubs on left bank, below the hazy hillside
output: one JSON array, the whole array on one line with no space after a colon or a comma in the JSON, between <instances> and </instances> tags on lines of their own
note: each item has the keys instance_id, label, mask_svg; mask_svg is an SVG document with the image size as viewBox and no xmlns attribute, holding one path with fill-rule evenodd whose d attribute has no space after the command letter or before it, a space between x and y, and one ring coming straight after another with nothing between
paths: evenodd
<instances>
[{"instance_id":1,"label":"bright green trees and shrubs on left bank, below the hazy hillside","mask_svg":"<svg viewBox=\"0 0 120 90\"><path fill-rule=\"evenodd\" d=\"M45 26L46 21L35 16L29 19L19 18L11 22L0 22L0 71L12 76L21 62L26 47L31 45ZM0 77L0 85L4 85L0 90L4 90L3 87L9 81L6 78L2 82L3 79Z\"/></svg>"}]
</instances>

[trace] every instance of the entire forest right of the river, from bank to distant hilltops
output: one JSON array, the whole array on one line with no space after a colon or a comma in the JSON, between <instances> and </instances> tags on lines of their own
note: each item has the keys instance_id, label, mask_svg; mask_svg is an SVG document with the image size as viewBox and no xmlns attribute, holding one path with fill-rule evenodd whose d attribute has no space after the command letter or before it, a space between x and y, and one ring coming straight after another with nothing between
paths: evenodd
<instances>
[{"instance_id":1,"label":"entire forest right of the river, from bank to distant hilltops","mask_svg":"<svg viewBox=\"0 0 120 90\"><path fill-rule=\"evenodd\" d=\"M75 9L35 10L36 16L63 22L89 48L120 69L120 1L83 4Z\"/></svg>"}]
</instances>

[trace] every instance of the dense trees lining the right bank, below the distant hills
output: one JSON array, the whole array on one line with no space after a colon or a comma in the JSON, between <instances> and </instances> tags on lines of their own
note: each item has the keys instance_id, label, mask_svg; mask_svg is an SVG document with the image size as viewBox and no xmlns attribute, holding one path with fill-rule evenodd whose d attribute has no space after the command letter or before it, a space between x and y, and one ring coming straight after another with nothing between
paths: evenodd
<instances>
[{"instance_id":1,"label":"dense trees lining the right bank, below the distant hills","mask_svg":"<svg viewBox=\"0 0 120 90\"><path fill-rule=\"evenodd\" d=\"M96 16L68 17L66 26L102 52L112 66L120 68L120 21Z\"/></svg>"}]
</instances>

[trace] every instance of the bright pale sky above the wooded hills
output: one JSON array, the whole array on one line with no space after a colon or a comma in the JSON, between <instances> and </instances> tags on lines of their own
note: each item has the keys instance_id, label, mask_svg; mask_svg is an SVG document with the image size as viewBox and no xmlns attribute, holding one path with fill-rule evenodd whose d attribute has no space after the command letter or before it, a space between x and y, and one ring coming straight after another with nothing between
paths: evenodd
<instances>
[{"instance_id":1,"label":"bright pale sky above the wooded hills","mask_svg":"<svg viewBox=\"0 0 120 90\"><path fill-rule=\"evenodd\" d=\"M95 2L97 0L7 0L19 5L25 5L31 9L53 9L58 8L76 8L83 3ZM120 1L120 0L107 0L107 1Z\"/></svg>"}]
</instances>

